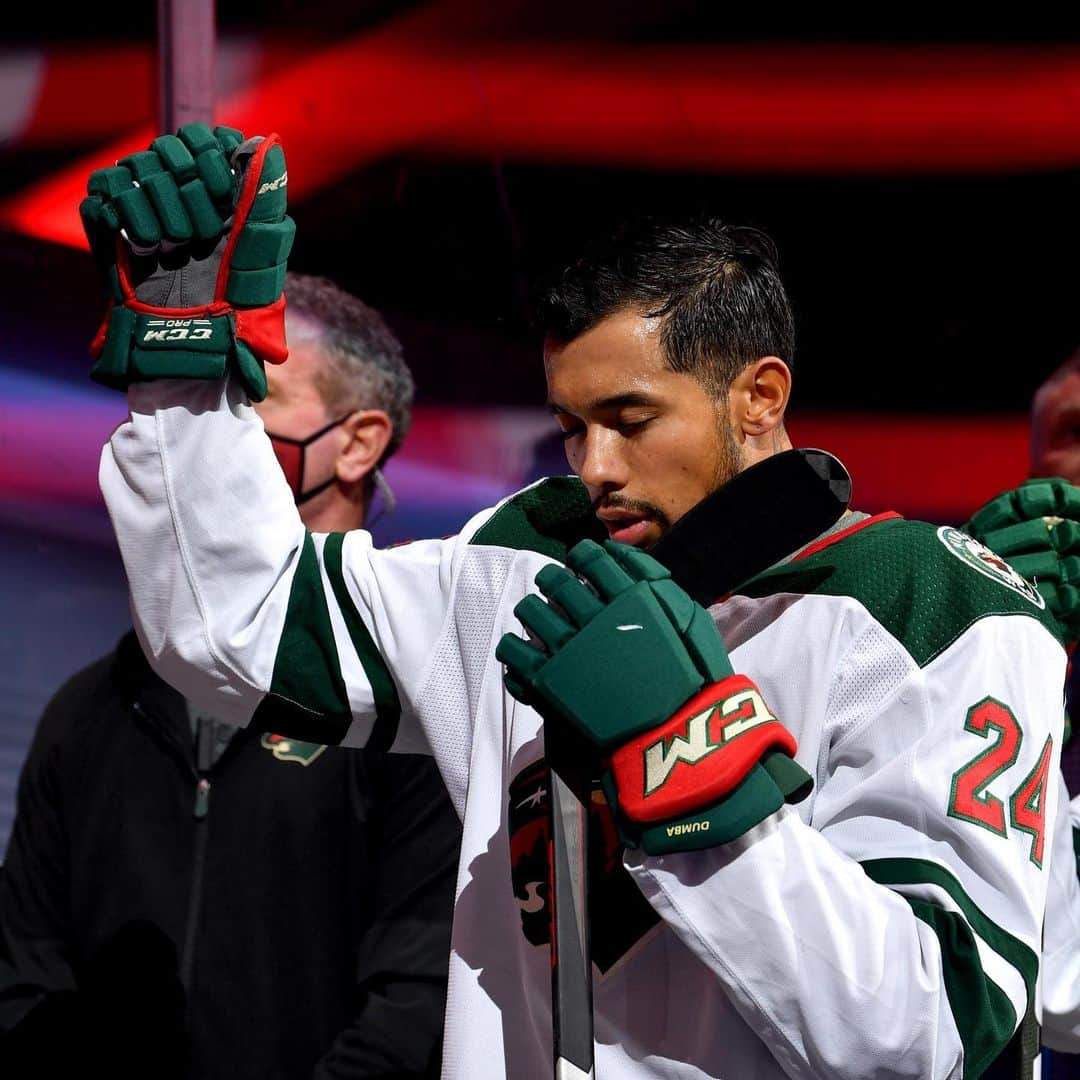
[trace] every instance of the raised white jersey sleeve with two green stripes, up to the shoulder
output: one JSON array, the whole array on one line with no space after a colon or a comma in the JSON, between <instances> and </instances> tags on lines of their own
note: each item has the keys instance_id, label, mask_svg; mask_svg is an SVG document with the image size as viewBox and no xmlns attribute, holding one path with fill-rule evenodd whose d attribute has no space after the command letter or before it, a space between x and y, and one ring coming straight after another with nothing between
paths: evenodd
<instances>
[{"instance_id":1,"label":"raised white jersey sleeve with two green stripes, up to the shoulder","mask_svg":"<svg viewBox=\"0 0 1080 1080\"><path fill-rule=\"evenodd\" d=\"M494 510L386 551L363 530L309 534L234 382L129 400L100 484L158 673L233 724L433 752L460 809L492 634L548 559L475 542Z\"/></svg>"}]
</instances>

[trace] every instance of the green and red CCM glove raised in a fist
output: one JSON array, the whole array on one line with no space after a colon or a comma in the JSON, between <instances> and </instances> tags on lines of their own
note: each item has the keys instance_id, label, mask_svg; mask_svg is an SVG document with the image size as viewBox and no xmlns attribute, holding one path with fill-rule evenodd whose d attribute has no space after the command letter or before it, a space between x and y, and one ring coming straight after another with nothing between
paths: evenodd
<instances>
[{"instance_id":1,"label":"green and red CCM glove raised in a fist","mask_svg":"<svg viewBox=\"0 0 1080 1080\"><path fill-rule=\"evenodd\" d=\"M234 370L253 401L285 347L285 153L276 135L187 124L92 173L79 206L109 307L91 375L217 379Z\"/></svg>"}]
</instances>

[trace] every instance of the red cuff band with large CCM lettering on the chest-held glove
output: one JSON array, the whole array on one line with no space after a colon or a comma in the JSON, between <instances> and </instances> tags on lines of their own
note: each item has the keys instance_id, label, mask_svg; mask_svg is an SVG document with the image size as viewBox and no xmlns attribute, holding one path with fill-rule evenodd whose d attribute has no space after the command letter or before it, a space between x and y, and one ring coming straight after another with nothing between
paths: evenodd
<instances>
[{"instance_id":1,"label":"red cuff band with large CCM lettering on the chest-held glove","mask_svg":"<svg viewBox=\"0 0 1080 1080\"><path fill-rule=\"evenodd\" d=\"M729 675L611 755L619 806L638 822L692 813L738 786L772 747L791 757L797 748L757 687Z\"/></svg>"}]
</instances>

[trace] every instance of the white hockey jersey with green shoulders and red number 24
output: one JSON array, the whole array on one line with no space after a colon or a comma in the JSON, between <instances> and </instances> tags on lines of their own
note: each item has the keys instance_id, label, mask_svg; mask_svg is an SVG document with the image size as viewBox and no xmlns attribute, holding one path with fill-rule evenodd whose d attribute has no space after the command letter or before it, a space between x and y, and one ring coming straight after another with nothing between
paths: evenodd
<instances>
[{"instance_id":1,"label":"white hockey jersey with green shoulders and red number 24","mask_svg":"<svg viewBox=\"0 0 1080 1080\"><path fill-rule=\"evenodd\" d=\"M543 733L495 646L583 489L376 551L305 532L237 387L130 401L100 478L151 662L237 724L435 756L463 822L444 1076L546 1080ZM1040 597L889 517L712 613L815 786L701 852L620 859L594 829L597 1077L980 1076L1039 967L1065 674Z\"/></svg>"}]
</instances>

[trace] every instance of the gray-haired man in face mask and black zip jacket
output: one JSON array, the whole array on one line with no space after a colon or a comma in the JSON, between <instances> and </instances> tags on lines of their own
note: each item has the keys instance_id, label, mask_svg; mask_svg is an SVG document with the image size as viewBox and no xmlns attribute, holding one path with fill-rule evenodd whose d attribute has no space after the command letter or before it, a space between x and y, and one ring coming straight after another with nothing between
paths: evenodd
<instances>
[{"instance_id":1,"label":"gray-haired man in face mask and black zip jacket","mask_svg":"<svg viewBox=\"0 0 1080 1080\"><path fill-rule=\"evenodd\" d=\"M314 532L368 521L413 380L379 314L286 280L267 431ZM302 648L302 644L298 645ZM0 1075L437 1075L460 825L430 757L201 715L134 634L46 706L0 879Z\"/></svg>"}]
</instances>

